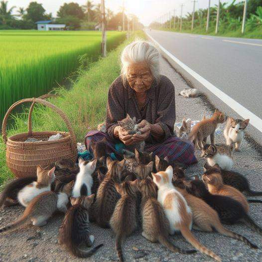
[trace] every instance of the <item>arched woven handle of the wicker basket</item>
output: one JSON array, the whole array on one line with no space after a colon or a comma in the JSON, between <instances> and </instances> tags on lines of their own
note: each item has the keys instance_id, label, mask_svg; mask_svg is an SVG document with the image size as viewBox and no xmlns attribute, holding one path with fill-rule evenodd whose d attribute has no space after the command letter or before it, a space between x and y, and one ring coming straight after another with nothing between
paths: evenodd
<instances>
[{"instance_id":1,"label":"arched woven handle of the wicker basket","mask_svg":"<svg viewBox=\"0 0 262 262\"><path fill-rule=\"evenodd\" d=\"M25 99L22 99L22 100L15 102L14 104L12 104L9 107L9 109L7 110L7 112L6 112L6 114L3 118L3 123L2 123L2 138L3 138L3 141L4 141L5 144L6 144L6 141L7 141L6 125L7 125L8 116L10 115L10 113L12 112L12 110L16 106L23 104L23 103L28 103L28 102L32 102L33 104L35 104L35 103L42 104L46 107L51 108L55 113L57 113L62 118L62 120L65 122L66 127L67 127L67 129L70 133L70 136L71 136L71 141L73 143L72 146L73 146L73 148L75 147L74 146L74 145L76 145L75 132L73 131L72 125L71 125L70 121L68 120L67 116L65 115L65 113L60 108L58 108L57 106L51 104L48 101L45 101L45 100L42 100L42 99L39 99L39 98L25 98ZM32 107L32 105L31 105L31 107Z\"/></svg>"}]
</instances>

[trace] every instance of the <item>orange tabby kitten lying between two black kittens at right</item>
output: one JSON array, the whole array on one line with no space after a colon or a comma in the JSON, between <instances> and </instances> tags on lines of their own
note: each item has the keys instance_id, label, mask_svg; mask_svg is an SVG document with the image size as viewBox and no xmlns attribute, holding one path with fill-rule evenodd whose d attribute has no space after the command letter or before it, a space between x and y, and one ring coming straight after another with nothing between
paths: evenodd
<instances>
[{"instance_id":1,"label":"orange tabby kitten lying between two black kittens at right","mask_svg":"<svg viewBox=\"0 0 262 262\"><path fill-rule=\"evenodd\" d=\"M231 197L242 204L247 213L249 212L249 203L246 197L236 188L223 184L223 178L218 164L208 169L203 174L202 180L207 183L208 191L211 194Z\"/></svg>"}]
</instances>

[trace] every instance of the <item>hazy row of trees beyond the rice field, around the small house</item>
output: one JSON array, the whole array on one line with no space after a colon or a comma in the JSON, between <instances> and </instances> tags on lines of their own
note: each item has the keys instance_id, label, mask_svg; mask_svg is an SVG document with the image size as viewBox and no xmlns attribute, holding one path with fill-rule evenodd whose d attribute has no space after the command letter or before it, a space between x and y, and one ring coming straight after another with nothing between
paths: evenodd
<instances>
[{"instance_id":1,"label":"hazy row of trees beyond the rice field, around the small house","mask_svg":"<svg viewBox=\"0 0 262 262\"><path fill-rule=\"evenodd\" d=\"M52 23L66 24L67 29L93 30L101 23L100 4L87 1L80 6L76 2L64 3L57 11L57 18L53 18L52 13L46 13L43 5L36 1L30 2L28 7L19 7L14 13L16 6L8 7L7 0L0 1L0 29L36 29L35 22L42 20L52 20ZM125 28L127 28L128 17L125 15ZM132 15L130 22L138 18ZM106 27L108 30L117 30L122 26L123 10L115 14L111 9L106 9ZM139 26L142 26L139 23Z\"/></svg>"}]
</instances>

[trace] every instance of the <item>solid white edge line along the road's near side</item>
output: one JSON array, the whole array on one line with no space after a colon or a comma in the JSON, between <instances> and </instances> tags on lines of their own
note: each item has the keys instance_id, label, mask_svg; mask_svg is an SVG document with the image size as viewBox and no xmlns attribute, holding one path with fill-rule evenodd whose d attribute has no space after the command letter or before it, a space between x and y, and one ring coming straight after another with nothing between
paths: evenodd
<instances>
[{"instance_id":1,"label":"solid white edge line along the road's near side","mask_svg":"<svg viewBox=\"0 0 262 262\"><path fill-rule=\"evenodd\" d=\"M205 78L200 76L194 70L189 68L183 62L181 62L178 58L168 52L163 46L161 46L153 37L151 37L147 32L146 35L158 46L158 48L169 58L171 58L175 63L181 66L185 71L187 71L192 77L194 77L199 83L201 83L205 88L207 88L210 92L212 92L215 96L217 96L220 100L222 100L226 105L231 107L236 113L238 113L244 119L250 119L250 124L255 127L257 130L262 132L262 119L257 117L251 111L243 107L236 100L222 92L220 89L215 87Z\"/></svg>"}]
</instances>

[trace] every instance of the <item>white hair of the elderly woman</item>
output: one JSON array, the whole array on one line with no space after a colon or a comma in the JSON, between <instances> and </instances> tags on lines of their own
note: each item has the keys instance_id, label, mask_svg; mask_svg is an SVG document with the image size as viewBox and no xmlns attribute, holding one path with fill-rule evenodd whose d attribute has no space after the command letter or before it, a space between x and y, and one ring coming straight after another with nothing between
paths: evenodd
<instances>
[{"instance_id":1,"label":"white hair of the elderly woman","mask_svg":"<svg viewBox=\"0 0 262 262\"><path fill-rule=\"evenodd\" d=\"M136 40L125 47L121 55L123 79L127 79L128 67L131 64L144 62L147 64L154 79L159 82L159 52L156 47L143 40Z\"/></svg>"}]
</instances>

